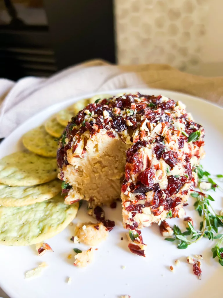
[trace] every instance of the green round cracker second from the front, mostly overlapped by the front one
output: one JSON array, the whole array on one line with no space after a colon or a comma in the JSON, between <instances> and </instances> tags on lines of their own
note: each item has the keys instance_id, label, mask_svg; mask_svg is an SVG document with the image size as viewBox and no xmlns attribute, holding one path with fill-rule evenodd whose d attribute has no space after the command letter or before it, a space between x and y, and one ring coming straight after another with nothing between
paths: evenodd
<instances>
[{"instance_id":1,"label":"green round cracker second from the front, mostly overlapped by the front one","mask_svg":"<svg viewBox=\"0 0 223 298\"><path fill-rule=\"evenodd\" d=\"M34 186L8 186L0 184L0 205L21 207L49 200L61 192L61 181L55 179Z\"/></svg>"}]
</instances>

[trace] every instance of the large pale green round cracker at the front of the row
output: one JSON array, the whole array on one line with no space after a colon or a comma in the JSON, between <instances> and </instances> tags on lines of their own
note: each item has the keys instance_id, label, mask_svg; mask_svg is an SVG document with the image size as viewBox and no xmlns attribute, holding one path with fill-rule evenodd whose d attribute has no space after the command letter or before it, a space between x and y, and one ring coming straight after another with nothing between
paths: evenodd
<instances>
[{"instance_id":1,"label":"large pale green round cracker at the front of the row","mask_svg":"<svg viewBox=\"0 0 223 298\"><path fill-rule=\"evenodd\" d=\"M25 246L60 233L75 218L79 203L67 205L61 195L23 206L0 207L0 244Z\"/></svg>"}]
</instances>

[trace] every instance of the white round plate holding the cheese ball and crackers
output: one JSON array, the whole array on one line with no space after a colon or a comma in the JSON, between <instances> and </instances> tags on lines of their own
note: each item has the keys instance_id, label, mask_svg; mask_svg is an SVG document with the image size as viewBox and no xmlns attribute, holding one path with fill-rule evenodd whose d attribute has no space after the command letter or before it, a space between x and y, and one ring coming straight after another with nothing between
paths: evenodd
<instances>
[{"instance_id":1,"label":"white round plate holding the cheese ball and crackers","mask_svg":"<svg viewBox=\"0 0 223 298\"><path fill-rule=\"evenodd\" d=\"M123 90L113 90L110 94L117 94ZM134 92L136 90L124 90ZM204 168L212 173L222 173L222 148L223 148L223 109L207 101L186 94L157 90L139 89L142 94L162 94L177 101L181 100L187 105L194 119L201 123L206 130L205 150L206 157L202 161ZM102 93L102 92L101 92ZM81 98L92 97L87 94L72 98L63 103L53 105L18 127L0 145L0 158L17 150L23 149L21 136L30 129L43 123L48 117L65 108ZM222 194L214 193L214 207L219 211L222 207ZM198 228L200 218L193 208L193 199L189 199L186 215L191 216ZM131 298L148 297L222 297L223 268L212 260L211 247L215 245L207 239L200 240L186 250L177 249L175 244L165 241L161 237L157 225L143 230L143 239L147 243L147 257L131 254L127 248L125 230L122 226L121 207L117 209L105 208L106 217L115 220L116 226L110 232L106 242L98 246L94 252L94 262L86 268L80 269L73 266L73 248L85 249L82 244L70 241L73 226L68 226L62 233L46 239L53 253L46 252L37 256L34 246L7 247L0 246L0 286L11 298L117 298L128 294ZM92 220L86 215L86 205L83 204L78 212L76 221ZM182 226L182 220L170 219L171 225L177 222ZM124 240L121 240L121 237ZM186 257L193 254L202 254L202 280L193 274L192 265L186 262ZM175 267L175 273L169 269L175 265L175 260L180 260L180 265ZM47 262L48 268L41 277L25 280L27 270L35 268L41 262ZM122 268L125 266L125 269ZM72 277L72 283L67 284L67 278Z\"/></svg>"}]
</instances>

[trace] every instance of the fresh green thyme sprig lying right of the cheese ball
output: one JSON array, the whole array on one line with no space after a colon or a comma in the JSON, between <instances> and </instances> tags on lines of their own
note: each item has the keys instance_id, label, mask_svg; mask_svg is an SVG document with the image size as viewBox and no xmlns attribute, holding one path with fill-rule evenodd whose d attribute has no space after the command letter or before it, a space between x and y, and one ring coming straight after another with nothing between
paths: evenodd
<instances>
[{"instance_id":1,"label":"fresh green thyme sprig lying right of the cheese ball","mask_svg":"<svg viewBox=\"0 0 223 298\"><path fill-rule=\"evenodd\" d=\"M213 258L218 257L219 263L223 266L223 247L221 248L221 244L223 243L223 234L217 234L218 228L223 227L223 216L216 214L213 207L210 204L210 201L214 201L211 195L204 193L204 190L201 188L201 182L208 183L208 190L216 190L222 188L211 179L211 174L207 171L204 171L202 166L196 167L194 169L197 172L198 176L198 187L200 191L194 191L191 193L191 196L196 199L194 203L194 208L197 210L198 214L202 217L202 221L200 222L200 229L196 231L193 225L188 222L188 227L186 227L186 231L182 232L180 228L174 225L173 238L165 238L167 241L174 242L175 240L179 240L178 249L186 249L188 245L192 243L196 243L202 237L207 237L209 240L219 239L217 244L212 248ZM216 175L217 178L222 178L222 174ZM169 215L169 213L168 213ZM217 235L214 236L214 233ZM186 237L190 236L190 237Z\"/></svg>"}]
</instances>

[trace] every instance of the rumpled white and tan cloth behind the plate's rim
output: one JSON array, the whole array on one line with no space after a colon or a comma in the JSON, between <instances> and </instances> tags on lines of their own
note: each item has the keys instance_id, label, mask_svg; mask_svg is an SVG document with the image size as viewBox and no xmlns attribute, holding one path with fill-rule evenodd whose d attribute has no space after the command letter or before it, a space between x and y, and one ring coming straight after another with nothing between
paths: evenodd
<instances>
[{"instance_id":1,"label":"rumpled white and tan cloth behind the plate's rim","mask_svg":"<svg viewBox=\"0 0 223 298\"><path fill-rule=\"evenodd\" d=\"M127 87L180 91L223 104L223 77L191 75L164 64L117 66L91 60L49 78L0 79L0 138L68 97Z\"/></svg>"}]
</instances>

